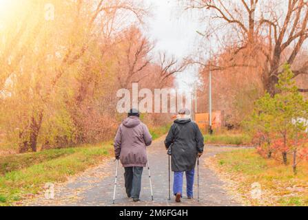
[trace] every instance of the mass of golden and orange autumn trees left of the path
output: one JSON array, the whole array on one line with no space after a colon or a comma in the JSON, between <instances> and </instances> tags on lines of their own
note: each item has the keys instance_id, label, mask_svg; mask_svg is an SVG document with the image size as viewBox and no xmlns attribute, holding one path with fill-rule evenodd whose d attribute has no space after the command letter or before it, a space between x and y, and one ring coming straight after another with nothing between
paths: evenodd
<instances>
[{"instance_id":1,"label":"mass of golden and orange autumn trees left of the path","mask_svg":"<svg viewBox=\"0 0 308 220\"><path fill-rule=\"evenodd\" d=\"M23 153L110 140L121 120L116 90L135 81L153 85L163 71L150 56L154 44L137 28L148 11L143 1L12 5L0 15L0 133L6 142Z\"/></svg>"}]
</instances>

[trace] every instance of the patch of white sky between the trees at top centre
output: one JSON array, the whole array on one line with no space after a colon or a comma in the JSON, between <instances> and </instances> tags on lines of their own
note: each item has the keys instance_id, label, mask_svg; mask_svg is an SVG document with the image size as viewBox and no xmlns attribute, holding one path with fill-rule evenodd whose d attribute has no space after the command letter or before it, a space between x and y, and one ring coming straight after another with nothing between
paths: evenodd
<instances>
[{"instance_id":1,"label":"patch of white sky between the trees at top centre","mask_svg":"<svg viewBox=\"0 0 308 220\"><path fill-rule=\"evenodd\" d=\"M153 5L152 17L146 20L147 36L156 42L154 53L166 51L174 54L179 60L196 52L196 41L200 36L196 33L200 24L196 15L184 12L177 0L146 0ZM155 54L154 54L155 55ZM177 84L187 89L187 83L196 80L198 69L189 68L178 74Z\"/></svg>"}]
</instances>

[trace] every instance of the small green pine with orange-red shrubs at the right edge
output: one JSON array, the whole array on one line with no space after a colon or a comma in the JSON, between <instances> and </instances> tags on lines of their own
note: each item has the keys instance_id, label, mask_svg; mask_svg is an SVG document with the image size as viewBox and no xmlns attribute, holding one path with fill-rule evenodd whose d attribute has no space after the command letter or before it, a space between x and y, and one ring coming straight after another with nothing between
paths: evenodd
<instances>
[{"instance_id":1,"label":"small green pine with orange-red shrubs at the right edge","mask_svg":"<svg viewBox=\"0 0 308 220\"><path fill-rule=\"evenodd\" d=\"M278 154L287 165L287 155L293 155L293 169L301 159L306 159L308 148L308 101L298 91L289 65L278 76L276 85L280 93L271 97L265 94L257 100L247 127L257 137L258 150L268 157ZM299 159L298 159L299 157Z\"/></svg>"}]
</instances>

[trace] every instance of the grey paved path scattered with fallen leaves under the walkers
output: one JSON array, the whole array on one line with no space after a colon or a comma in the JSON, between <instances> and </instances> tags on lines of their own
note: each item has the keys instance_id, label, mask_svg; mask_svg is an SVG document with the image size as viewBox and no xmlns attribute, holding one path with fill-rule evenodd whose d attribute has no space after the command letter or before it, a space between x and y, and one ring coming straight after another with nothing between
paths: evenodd
<instances>
[{"instance_id":1,"label":"grey paved path scattered with fallen leaves under the walkers","mask_svg":"<svg viewBox=\"0 0 308 220\"><path fill-rule=\"evenodd\" d=\"M168 200L168 160L163 138L156 140L148 150L154 201L151 201L150 182L147 169L143 171L141 201L134 203L125 197L123 168L119 166L118 185L115 206L240 206L223 190L223 182L212 170L205 166L205 159L213 156L223 147L207 147L205 156L200 161L200 202L196 199L186 199L185 181L182 203L175 203L174 198ZM110 160L96 168L83 173L72 181L60 186L56 185L55 199L46 200L43 197L32 201L30 206L112 206L114 189L114 172L116 162ZM196 182L196 181L195 181ZM194 188L195 197L197 187Z\"/></svg>"}]
</instances>

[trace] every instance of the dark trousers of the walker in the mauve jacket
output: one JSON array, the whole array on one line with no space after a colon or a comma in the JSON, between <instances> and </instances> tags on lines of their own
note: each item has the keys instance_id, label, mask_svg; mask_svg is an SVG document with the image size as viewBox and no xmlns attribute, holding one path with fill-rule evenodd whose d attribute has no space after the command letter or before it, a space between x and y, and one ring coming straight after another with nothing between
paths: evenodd
<instances>
[{"instance_id":1,"label":"dark trousers of the walker in the mauve jacket","mask_svg":"<svg viewBox=\"0 0 308 220\"><path fill-rule=\"evenodd\" d=\"M139 198L143 167L125 167L125 188L128 197Z\"/></svg>"}]
</instances>

